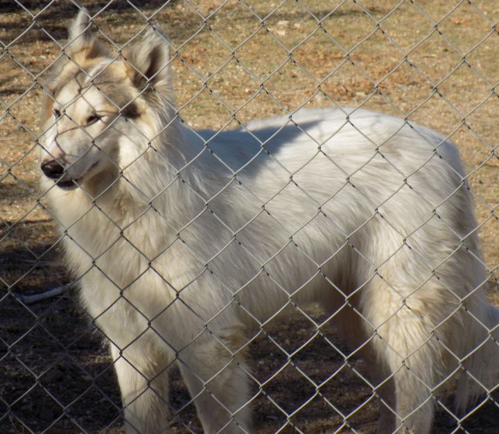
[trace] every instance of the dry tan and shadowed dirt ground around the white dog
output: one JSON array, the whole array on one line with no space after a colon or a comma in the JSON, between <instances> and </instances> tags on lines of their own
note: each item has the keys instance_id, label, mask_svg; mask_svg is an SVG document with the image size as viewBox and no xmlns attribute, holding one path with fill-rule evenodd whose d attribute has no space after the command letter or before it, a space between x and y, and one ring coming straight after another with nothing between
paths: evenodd
<instances>
[{"instance_id":1,"label":"dry tan and shadowed dirt ground around the white dog","mask_svg":"<svg viewBox=\"0 0 499 434\"><path fill-rule=\"evenodd\" d=\"M166 29L177 107L193 128L234 128L301 105L362 105L447 134L469 173L491 272L489 297L499 304L499 3L135 4L85 2L90 12L101 11L95 22L116 50L149 17ZM13 295L71 281L51 216L37 202L36 139L43 71L59 55L76 11L69 2L0 0L0 433L122 429L119 390L103 337L80 311L73 290L29 305ZM293 318L265 329L252 344L254 376L261 383L269 380L252 403L255 431L373 433L378 404L360 374L369 367L349 357L351 349L337 343L331 327L321 329L286 365L282 349L293 351L317 332L304 315ZM304 374L315 384L329 381L317 392ZM171 375L171 405L183 408L172 431L200 432L175 368ZM498 432L498 402L492 395L457 420L451 403L439 399L434 431ZM289 420L286 413L292 413Z\"/></svg>"}]
</instances>

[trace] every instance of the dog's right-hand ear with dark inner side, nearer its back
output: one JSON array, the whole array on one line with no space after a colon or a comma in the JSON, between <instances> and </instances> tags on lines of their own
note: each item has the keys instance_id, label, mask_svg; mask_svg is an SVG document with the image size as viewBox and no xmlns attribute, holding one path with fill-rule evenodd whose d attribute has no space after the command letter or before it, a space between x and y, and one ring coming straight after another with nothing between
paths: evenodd
<instances>
[{"instance_id":1,"label":"dog's right-hand ear with dark inner side, nearer its back","mask_svg":"<svg viewBox=\"0 0 499 434\"><path fill-rule=\"evenodd\" d=\"M137 89L171 96L168 38L157 28L149 28L141 41L123 49L123 58L126 73Z\"/></svg>"}]
</instances>

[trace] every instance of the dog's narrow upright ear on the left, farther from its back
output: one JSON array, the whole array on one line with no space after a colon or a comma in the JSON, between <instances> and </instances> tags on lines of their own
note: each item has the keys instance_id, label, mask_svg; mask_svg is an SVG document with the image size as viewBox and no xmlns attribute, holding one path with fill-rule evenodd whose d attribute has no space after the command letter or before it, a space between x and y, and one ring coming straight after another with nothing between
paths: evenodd
<instances>
[{"instance_id":1,"label":"dog's narrow upright ear on the left, farther from its back","mask_svg":"<svg viewBox=\"0 0 499 434\"><path fill-rule=\"evenodd\" d=\"M107 55L104 44L98 40L96 26L91 21L88 10L82 8L69 26L68 44L64 51L69 57L78 58L98 58Z\"/></svg>"}]
</instances>

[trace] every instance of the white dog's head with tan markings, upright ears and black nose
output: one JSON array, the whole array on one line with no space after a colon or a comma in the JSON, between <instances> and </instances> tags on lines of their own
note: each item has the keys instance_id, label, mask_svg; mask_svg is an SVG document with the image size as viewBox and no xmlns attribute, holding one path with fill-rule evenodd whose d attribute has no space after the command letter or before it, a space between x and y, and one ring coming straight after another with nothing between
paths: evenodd
<instances>
[{"instance_id":1,"label":"white dog's head with tan markings, upright ears and black nose","mask_svg":"<svg viewBox=\"0 0 499 434\"><path fill-rule=\"evenodd\" d=\"M139 158L174 113L169 62L168 40L157 29L118 53L107 49L81 10L44 86L45 180L62 189L109 184Z\"/></svg>"}]
</instances>

